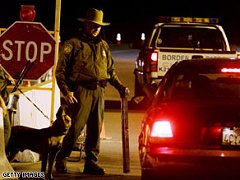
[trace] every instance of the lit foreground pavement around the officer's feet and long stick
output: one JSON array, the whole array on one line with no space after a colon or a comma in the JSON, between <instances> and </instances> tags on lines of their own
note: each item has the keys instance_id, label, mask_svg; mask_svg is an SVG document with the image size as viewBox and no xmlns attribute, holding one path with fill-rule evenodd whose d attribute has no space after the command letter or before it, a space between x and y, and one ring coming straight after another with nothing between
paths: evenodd
<instances>
[{"instance_id":1,"label":"lit foreground pavement around the officer's feet and long stick","mask_svg":"<svg viewBox=\"0 0 240 180\"><path fill-rule=\"evenodd\" d=\"M121 112L120 110L114 110L105 112L104 129L101 137L99 164L106 170L106 175L92 176L83 174L84 154L79 160L80 152L73 151L67 163L68 173L57 174L54 169L55 179L141 179L137 140L142 118L143 112L130 111L128 113L129 172L125 173L123 168ZM39 172L41 162L14 162L11 165L15 172Z\"/></svg>"}]
</instances>

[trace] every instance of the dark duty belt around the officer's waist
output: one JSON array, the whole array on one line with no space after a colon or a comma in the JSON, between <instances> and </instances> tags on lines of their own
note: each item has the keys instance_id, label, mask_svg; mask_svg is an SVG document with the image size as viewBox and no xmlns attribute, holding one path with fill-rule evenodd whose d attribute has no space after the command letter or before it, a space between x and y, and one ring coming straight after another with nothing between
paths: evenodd
<instances>
[{"instance_id":1,"label":"dark duty belt around the officer's waist","mask_svg":"<svg viewBox=\"0 0 240 180\"><path fill-rule=\"evenodd\" d=\"M107 80L81 80L78 81L78 85L83 86L86 89L95 90L98 86L106 87Z\"/></svg>"}]
</instances>

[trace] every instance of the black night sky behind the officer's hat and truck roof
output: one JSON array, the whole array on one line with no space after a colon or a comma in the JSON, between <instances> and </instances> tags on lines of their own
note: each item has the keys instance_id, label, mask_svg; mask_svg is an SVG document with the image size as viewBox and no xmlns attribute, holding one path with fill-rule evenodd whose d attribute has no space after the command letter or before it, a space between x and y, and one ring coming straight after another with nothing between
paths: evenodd
<instances>
[{"instance_id":1,"label":"black night sky behind the officer's hat and truck roof","mask_svg":"<svg viewBox=\"0 0 240 180\"><path fill-rule=\"evenodd\" d=\"M9 27L19 20L20 5L35 5L35 21L42 22L48 30L54 30L55 0L8 0L0 6L0 25ZM240 44L240 1L216 0L62 0L61 32L62 41L78 30L86 9L94 7L104 11L104 21L111 22L104 27L105 38L115 43L117 33L122 41L129 43L147 33L157 16L189 16L219 18L230 43Z\"/></svg>"}]
</instances>

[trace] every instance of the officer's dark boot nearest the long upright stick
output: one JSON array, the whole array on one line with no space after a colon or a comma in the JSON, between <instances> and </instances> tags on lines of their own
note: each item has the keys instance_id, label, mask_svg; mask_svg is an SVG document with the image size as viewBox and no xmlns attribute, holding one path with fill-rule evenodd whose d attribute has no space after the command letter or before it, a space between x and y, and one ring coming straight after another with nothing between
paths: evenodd
<instances>
[{"instance_id":1,"label":"officer's dark boot nearest the long upright stick","mask_svg":"<svg viewBox=\"0 0 240 180\"><path fill-rule=\"evenodd\" d=\"M83 173L92 175L104 175L105 170L94 161L86 161Z\"/></svg>"}]
</instances>

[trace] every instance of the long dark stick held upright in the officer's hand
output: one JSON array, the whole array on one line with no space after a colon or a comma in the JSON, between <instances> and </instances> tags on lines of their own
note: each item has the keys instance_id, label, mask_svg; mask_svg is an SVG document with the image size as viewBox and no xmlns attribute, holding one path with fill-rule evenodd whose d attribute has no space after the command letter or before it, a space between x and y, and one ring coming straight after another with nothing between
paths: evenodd
<instances>
[{"instance_id":1,"label":"long dark stick held upright in the officer's hand","mask_svg":"<svg viewBox=\"0 0 240 180\"><path fill-rule=\"evenodd\" d=\"M121 97L122 100L122 148L123 148L123 172L130 172L130 158L129 158L129 129L128 129L128 89L125 92L126 96Z\"/></svg>"}]
</instances>

